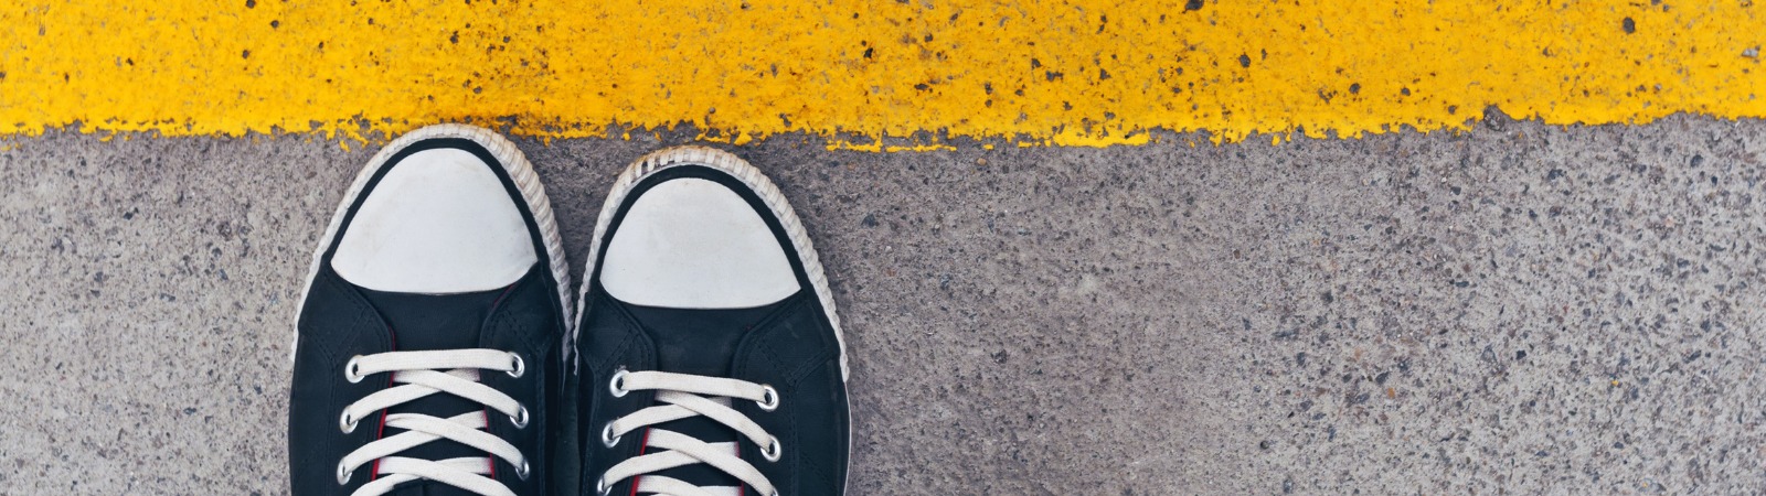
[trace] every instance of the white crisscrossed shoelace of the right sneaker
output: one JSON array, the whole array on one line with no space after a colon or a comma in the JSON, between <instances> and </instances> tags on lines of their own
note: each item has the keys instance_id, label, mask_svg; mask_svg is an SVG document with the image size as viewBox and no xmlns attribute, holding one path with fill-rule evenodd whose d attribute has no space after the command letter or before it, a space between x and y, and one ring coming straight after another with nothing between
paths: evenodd
<instances>
[{"instance_id":1,"label":"white crisscrossed shoelace of the right sneaker","mask_svg":"<svg viewBox=\"0 0 1766 496\"><path fill-rule=\"evenodd\" d=\"M664 404L650 406L608 422L608 425L600 429L600 443L606 447L618 445L622 436L638 429L703 415L717 420L717 424L724 424L729 429L742 432L743 438L761 447L761 457L766 461L779 461L779 455L782 454L779 438L766 434L766 429L761 429L759 424L754 424L754 420L749 420L747 415L729 408L731 399L745 399L759 404L765 411L774 411L779 408L779 392L768 385L675 372L618 371L613 374L613 381L608 387L613 390L615 397L622 397L634 390L655 390L657 401ZM740 487L699 487L678 478L650 475L678 466L703 462L729 473L747 485L752 485L759 496L779 496L779 489L775 489L772 482L754 468L754 464L749 464L736 455L736 443L706 443L666 429L650 429L650 434L645 438L646 447L660 448L662 452L630 457L608 468L608 473L595 482L595 492L608 494L608 491L613 491L613 485L620 480L636 477L636 492L668 496L738 494Z\"/></svg>"}]
</instances>

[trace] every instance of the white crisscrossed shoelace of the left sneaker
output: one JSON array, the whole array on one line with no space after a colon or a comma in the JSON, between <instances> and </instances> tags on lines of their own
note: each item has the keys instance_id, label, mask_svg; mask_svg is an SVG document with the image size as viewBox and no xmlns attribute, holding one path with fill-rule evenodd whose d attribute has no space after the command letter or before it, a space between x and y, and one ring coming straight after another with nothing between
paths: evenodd
<instances>
[{"instance_id":1,"label":"white crisscrossed shoelace of the left sneaker","mask_svg":"<svg viewBox=\"0 0 1766 496\"><path fill-rule=\"evenodd\" d=\"M344 408L337 427L346 434L353 432L362 418L376 411L438 392L480 402L509 415L509 422L517 429L526 427L528 410L507 394L479 383L479 371L498 371L519 378L526 374L526 365L519 355L496 349L389 351L355 357L344 365L344 380L357 383L369 374L392 372L392 383L397 387L378 390ZM337 462L337 484L348 484L357 468L373 462L380 477L357 489L353 496L387 494L394 485L419 478L484 496L516 496L503 484L486 477L494 462L491 457L426 461L396 455L429 441L449 440L503 459L516 466L516 475L528 478L528 459L516 445L484 431L489 420L486 417L487 413L482 410L449 418L419 413L387 415L387 427L404 429L404 432L374 440L344 455Z\"/></svg>"}]
</instances>

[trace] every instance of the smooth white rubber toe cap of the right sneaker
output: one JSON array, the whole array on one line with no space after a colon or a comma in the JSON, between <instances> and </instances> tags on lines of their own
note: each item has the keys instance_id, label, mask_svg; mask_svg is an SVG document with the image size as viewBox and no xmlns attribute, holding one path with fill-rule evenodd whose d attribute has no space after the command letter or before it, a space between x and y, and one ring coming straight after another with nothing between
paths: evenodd
<instances>
[{"instance_id":1,"label":"smooth white rubber toe cap of the right sneaker","mask_svg":"<svg viewBox=\"0 0 1766 496\"><path fill-rule=\"evenodd\" d=\"M608 242L600 286L634 305L747 309L798 291L784 247L722 184L676 178L645 191Z\"/></svg>"}]
</instances>

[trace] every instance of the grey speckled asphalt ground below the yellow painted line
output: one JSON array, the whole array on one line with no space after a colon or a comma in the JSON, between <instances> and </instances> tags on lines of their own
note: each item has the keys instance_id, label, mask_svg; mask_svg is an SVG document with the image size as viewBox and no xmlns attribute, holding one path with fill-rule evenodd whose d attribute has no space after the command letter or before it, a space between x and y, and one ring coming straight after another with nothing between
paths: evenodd
<instances>
[{"instance_id":1,"label":"grey speckled asphalt ground below the yellow painted line","mask_svg":"<svg viewBox=\"0 0 1766 496\"><path fill-rule=\"evenodd\" d=\"M683 134L691 136L691 134ZM630 159L517 139L572 265ZM735 152L853 365L853 494L1766 491L1766 122ZM374 147L0 152L0 494L281 494L313 245Z\"/></svg>"}]
</instances>

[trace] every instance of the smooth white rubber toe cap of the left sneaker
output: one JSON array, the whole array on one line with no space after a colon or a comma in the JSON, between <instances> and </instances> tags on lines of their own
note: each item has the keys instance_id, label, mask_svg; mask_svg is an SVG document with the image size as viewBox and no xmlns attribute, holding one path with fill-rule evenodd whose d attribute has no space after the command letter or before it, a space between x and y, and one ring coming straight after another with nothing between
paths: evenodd
<instances>
[{"instance_id":1,"label":"smooth white rubber toe cap of the left sneaker","mask_svg":"<svg viewBox=\"0 0 1766 496\"><path fill-rule=\"evenodd\" d=\"M470 293L514 284L539 258L494 164L456 150L404 157L367 191L332 270L396 293Z\"/></svg>"}]
</instances>

